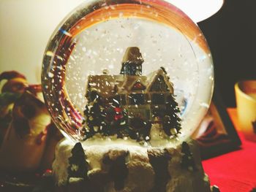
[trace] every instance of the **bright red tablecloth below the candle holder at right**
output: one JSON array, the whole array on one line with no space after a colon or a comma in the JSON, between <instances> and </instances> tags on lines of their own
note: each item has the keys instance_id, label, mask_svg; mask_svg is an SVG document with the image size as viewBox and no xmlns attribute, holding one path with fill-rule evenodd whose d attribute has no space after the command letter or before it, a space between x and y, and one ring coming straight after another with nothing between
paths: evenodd
<instances>
[{"instance_id":1,"label":"bright red tablecloth below the candle holder at right","mask_svg":"<svg viewBox=\"0 0 256 192\"><path fill-rule=\"evenodd\" d=\"M227 112L238 130L236 110L228 109ZM245 140L239 131L238 134L241 150L203 161L211 185L217 185L221 192L249 192L256 188L256 142Z\"/></svg>"}]
</instances>

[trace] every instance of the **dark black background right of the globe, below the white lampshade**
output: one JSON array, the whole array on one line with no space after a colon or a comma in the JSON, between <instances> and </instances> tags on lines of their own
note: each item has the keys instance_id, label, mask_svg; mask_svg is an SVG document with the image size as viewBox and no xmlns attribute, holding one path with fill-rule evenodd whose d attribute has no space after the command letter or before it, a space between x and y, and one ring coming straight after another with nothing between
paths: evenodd
<instances>
[{"instance_id":1,"label":"dark black background right of the globe, below the white lampshade","mask_svg":"<svg viewBox=\"0 0 256 192\"><path fill-rule=\"evenodd\" d=\"M256 0L225 0L219 12L197 24L214 58L217 90L227 107L235 107L235 83L256 79Z\"/></svg>"}]
</instances>

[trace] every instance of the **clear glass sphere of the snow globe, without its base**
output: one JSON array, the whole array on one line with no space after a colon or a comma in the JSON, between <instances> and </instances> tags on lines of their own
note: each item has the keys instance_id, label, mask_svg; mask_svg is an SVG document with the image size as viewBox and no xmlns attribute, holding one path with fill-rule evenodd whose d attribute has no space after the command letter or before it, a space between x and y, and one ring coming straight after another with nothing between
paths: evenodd
<instances>
[{"instance_id":1,"label":"clear glass sphere of the snow globe, without its base","mask_svg":"<svg viewBox=\"0 0 256 192\"><path fill-rule=\"evenodd\" d=\"M42 65L50 115L75 141L184 141L206 114L213 85L202 32L162 0L86 1L56 28ZM156 125L164 131L151 133Z\"/></svg>"}]
</instances>

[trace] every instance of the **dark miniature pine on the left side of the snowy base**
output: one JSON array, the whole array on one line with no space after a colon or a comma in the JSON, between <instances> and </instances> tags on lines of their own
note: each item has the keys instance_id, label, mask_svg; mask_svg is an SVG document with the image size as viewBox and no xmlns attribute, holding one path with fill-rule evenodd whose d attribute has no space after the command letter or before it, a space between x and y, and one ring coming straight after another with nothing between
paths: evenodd
<instances>
[{"instance_id":1,"label":"dark miniature pine on the left side of the snowy base","mask_svg":"<svg viewBox=\"0 0 256 192\"><path fill-rule=\"evenodd\" d=\"M88 172L88 163L86 154L80 142L77 142L71 150L72 156L69 158L69 167L67 168L68 177L86 178Z\"/></svg>"}]
</instances>

